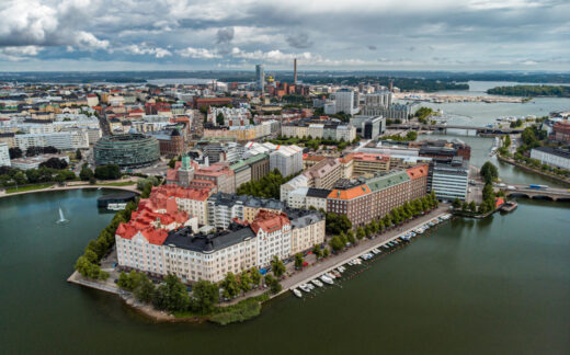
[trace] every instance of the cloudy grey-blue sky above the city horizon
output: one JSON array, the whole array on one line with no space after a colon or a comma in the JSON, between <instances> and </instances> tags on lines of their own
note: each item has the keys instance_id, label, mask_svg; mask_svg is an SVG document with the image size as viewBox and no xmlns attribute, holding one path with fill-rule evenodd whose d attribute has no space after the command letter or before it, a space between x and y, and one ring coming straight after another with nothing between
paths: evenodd
<instances>
[{"instance_id":1,"label":"cloudy grey-blue sky above the city horizon","mask_svg":"<svg viewBox=\"0 0 570 355\"><path fill-rule=\"evenodd\" d=\"M2 0L0 70L570 70L569 0Z\"/></svg>"}]
</instances>

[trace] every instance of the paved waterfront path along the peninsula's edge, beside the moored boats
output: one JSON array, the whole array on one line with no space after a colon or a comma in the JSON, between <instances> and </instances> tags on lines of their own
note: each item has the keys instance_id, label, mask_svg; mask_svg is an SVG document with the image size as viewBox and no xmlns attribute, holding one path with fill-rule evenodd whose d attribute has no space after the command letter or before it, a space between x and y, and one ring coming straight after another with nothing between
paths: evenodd
<instances>
[{"instance_id":1,"label":"paved waterfront path along the peninsula's edge, beside the moored boats","mask_svg":"<svg viewBox=\"0 0 570 355\"><path fill-rule=\"evenodd\" d=\"M263 305L266 301L270 301L276 297L280 297L286 293L289 293L290 289L298 287L300 284L305 284L309 282L310 279L320 277L322 274L326 274L330 272L331 270L334 270L339 267L340 265L346 264L349 261L362 255L363 253L369 252L374 248L378 248L379 245L389 242L391 240L397 239L398 237L406 234L407 232L414 230L419 228L420 226L429 222L432 219L435 219L440 216L443 216L445 214L448 214L448 205L441 204L440 207L431 210L430 213L420 216L408 224L404 224L400 226L399 228L396 227L389 231L386 231L385 233L376 237L375 239L363 239L361 240L355 247L339 253L333 256L329 256L328 259L309 266L298 273L293 274L292 276L287 278L281 279L282 290L275 295L270 295L267 300L261 301L261 305ZM73 271L73 273L67 278L68 283L80 285L83 287L94 288L101 291L106 291L110 294L114 294L118 296L127 306L129 306L132 309L138 311L139 313L152 319L157 322L204 322L208 320L207 316L195 316L195 317L187 317L187 318L176 318L175 316L171 313L167 313L163 311L156 310L151 305L144 305L138 304L135 300L133 296L130 296L130 293L121 290L116 284L111 282L105 283L99 283L93 282L83 278L79 275L77 271ZM267 289L260 288L254 291L251 291L247 297L239 297L233 299L230 302L219 304L219 307L227 307L235 305L239 301L242 301L248 298L260 296L263 293L266 293Z\"/></svg>"}]
</instances>

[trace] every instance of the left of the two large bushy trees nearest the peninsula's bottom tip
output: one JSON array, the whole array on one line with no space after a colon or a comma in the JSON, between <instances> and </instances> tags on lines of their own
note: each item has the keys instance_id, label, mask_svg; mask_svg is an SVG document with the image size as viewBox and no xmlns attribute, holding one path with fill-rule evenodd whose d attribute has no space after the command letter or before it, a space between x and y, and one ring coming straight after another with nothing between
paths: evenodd
<instances>
[{"instance_id":1,"label":"left of the two large bushy trees nearest the peninsula's bottom tip","mask_svg":"<svg viewBox=\"0 0 570 355\"><path fill-rule=\"evenodd\" d=\"M167 275L152 295L152 305L170 312L185 311L190 306L186 286L175 275Z\"/></svg>"}]
</instances>

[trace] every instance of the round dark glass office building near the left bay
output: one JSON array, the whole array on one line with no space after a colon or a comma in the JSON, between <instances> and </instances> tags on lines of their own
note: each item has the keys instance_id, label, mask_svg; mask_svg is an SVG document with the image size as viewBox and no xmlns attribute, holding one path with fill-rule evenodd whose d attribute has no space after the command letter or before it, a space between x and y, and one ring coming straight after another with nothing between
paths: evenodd
<instances>
[{"instance_id":1,"label":"round dark glass office building near the left bay","mask_svg":"<svg viewBox=\"0 0 570 355\"><path fill-rule=\"evenodd\" d=\"M160 158L158 140L141 134L114 135L101 138L93 148L95 163L139 168Z\"/></svg>"}]
</instances>

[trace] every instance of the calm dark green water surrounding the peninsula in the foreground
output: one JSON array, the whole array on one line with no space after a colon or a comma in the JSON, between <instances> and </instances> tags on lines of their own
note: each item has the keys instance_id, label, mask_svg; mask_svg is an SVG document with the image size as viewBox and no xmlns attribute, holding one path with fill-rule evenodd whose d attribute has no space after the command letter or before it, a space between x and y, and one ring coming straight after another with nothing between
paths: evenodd
<instances>
[{"instance_id":1,"label":"calm dark green water surrounding the peninsula in the foreground","mask_svg":"<svg viewBox=\"0 0 570 355\"><path fill-rule=\"evenodd\" d=\"M522 201L508 216L454 220L342 288L287 295L221 328L157 324L65 282L112 217L98 214L101 193L0 199L0 353L570 351L569 205ZM55 224L59 204L67 225Z\"/></svg>"}]
</instances>

